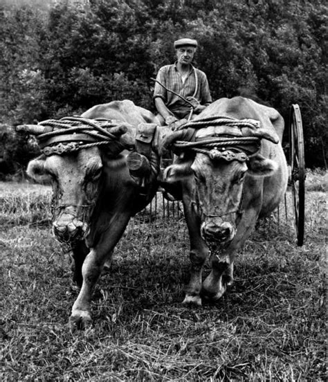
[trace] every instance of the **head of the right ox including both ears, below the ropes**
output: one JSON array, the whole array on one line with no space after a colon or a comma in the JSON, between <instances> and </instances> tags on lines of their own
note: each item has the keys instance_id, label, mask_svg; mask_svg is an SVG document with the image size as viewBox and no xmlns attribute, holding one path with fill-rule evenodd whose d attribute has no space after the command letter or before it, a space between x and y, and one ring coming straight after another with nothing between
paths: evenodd
<instances>
[{"instance_id":1,"label":"head of the right ox including both ears, below the ropes","mask_svg":"<svg viewBox=\"0 0 328 382\"><path fill-rule=\"evenodd\" d=\"M275 134L266 131L265 138L277 143ZM253 154L243 147L185 151L164 172L164 182L187 185L190 208L201 219L201 237L211 250L226 246L235 237L246 174L264 177L277 169L274 161L255 154L260 139L257 135Z\"/></svg>"}]
</instances>

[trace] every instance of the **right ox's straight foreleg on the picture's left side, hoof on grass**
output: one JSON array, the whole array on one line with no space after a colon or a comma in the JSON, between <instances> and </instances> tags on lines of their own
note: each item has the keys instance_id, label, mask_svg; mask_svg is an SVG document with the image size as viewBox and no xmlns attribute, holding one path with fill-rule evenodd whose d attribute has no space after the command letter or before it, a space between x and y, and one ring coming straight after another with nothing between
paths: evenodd
<instances>
[{"instance_id":1,"label":"right ox's straight foreleg on the picture's left side, hoof on grass","mask_svg":"<svg viewBox=\"0 0 328 382\"><path fill-rule=\"evenodd\" d=\"M189 237L190 237L190 280L185 287L185 299L183 304L194 304L201 306L201 273L203 271L203 265L208 257L208 248L201 239L200 233L200 221L194 214L188 203L184 203L185 206L185 218L188 225ZM190 206L190 204L189 204Z\"/></svg>"}]
</instances>

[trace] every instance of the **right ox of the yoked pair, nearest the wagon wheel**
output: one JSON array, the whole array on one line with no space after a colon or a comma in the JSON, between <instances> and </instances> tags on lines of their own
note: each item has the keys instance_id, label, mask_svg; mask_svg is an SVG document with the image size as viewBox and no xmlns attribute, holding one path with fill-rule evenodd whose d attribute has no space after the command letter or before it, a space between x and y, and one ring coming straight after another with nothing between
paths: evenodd
<instances>
[{"instance_id":1,"label":"right ox of the yoked pair, nearest the wagon wheel","mask_svg":"<svg viewBox=\"0 0 328 382\"><path fill-rule=\"evenodd\" d=\"M232 125L211 125L217 115L231 120ZM246 127L238 127L242 120ZM209 122L194 131L194 143L181 144L188 135L185 129L166 138L164 146L175 142L173 147L180 148L178 158L163 175L167 191L183 200L192 263L183 302L197 305L201 305L201 296L221 298L226 286L233 282L235 254L257 219L270 215L279 205L287 185L286 159L280 143L284 120L275 109L247 98L222 98L210 104L189 126L197 127L200 121ZM248 125L249 121L253 125ZM229 143L230 138L233 142ZM235 144L239 138L246 139ZM202 146L215 139L221 139L226 147ZM209 252L212 271L202 282L202 268Z\"/></svg>"}]
</instances>

